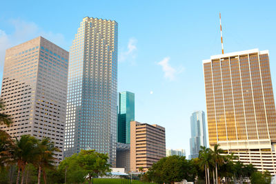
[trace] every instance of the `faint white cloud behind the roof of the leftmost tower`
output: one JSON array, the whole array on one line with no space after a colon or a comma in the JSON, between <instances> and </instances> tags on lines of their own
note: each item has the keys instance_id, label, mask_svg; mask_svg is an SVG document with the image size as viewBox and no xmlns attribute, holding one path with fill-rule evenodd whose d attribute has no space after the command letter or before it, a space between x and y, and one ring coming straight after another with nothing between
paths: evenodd
<instances>
[{"instance_id":1,"label":"faint white cloud behind the roof of the leftmost tower","mask_svg":"<svg viewBox=\"0 0 276 184\"><path fill-rule=\"evenodd\" d=\"M14 29L13 32L7 34L4 30L0 30L0 68L3 67L5 53L8 48L39 36L52 41L61 48L66 47L65 49L67 49L68 44L60 33L46 32L39 28L36 23L23 21L21 19L12 19L9 23Z\"/></svg>"}]
</instances>

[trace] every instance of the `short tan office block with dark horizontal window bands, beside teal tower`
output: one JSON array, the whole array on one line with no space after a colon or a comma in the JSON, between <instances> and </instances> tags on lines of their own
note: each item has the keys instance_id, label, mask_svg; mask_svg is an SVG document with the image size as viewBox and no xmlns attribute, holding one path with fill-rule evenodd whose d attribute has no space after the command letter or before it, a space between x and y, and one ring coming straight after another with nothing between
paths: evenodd
<instances>
[{"instance_id":1,"label":"short tan office block with dark horizontal window bands, beside teal tower","mask_svg":"<svg viewBox=\"0 0 276 184\"><path fill-rule=\"evenodd\" d=\"M165 128L130 121L130 172L144 171L166 156Z\"/></svg>"}]
</instances>

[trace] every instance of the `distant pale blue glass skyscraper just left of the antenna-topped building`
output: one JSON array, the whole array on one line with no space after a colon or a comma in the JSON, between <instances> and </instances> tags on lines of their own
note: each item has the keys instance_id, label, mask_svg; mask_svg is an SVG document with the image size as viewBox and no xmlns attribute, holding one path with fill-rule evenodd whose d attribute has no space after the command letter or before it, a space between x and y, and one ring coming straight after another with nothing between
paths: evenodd
<instances>
[{"instance_id":1,"label":"distant pale blue glass skyscraper just left of the antenna-topped building","mask_svg":"<svg viewBox=\"0 0 276 184\"><path fill-rule=\"evenodd\" d=\"M207 146L205 114L199 110L190 116L190 158L195 159L199 156L200 146Z\"/></svg>"}]
</instances>

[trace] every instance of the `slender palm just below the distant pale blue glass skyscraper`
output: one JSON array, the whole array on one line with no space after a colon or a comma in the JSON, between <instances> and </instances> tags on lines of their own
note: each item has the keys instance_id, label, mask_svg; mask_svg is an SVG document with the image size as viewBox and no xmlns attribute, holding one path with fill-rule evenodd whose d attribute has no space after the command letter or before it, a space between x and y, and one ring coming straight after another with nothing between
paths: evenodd
<instances>
[{"instance_id":1,"label":"slender palm just below the distant pale blue glass skyscraper","mask_svg":"<svg viewBox=\"0 0 276 184\"><path fill-rule=\"evenodd\" d=\"M200 159L199 165L201 166L201 168L204 168L204 170L205 170L206 184L207 183L210 184L209 168L210 168L210 165L213 163L213 160L210 155L210 148L201 146L200 149L201 150L199 151L199 159ZM207 178L208 178L208 180L207 180Z\"/></svg>"}]
</instances>

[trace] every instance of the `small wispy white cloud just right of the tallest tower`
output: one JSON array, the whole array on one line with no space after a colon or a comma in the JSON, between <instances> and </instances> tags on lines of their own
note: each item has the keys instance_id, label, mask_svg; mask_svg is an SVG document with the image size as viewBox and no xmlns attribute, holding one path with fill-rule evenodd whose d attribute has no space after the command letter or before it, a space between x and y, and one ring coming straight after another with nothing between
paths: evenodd
<instances>
[{"instance_id":1,"label":"small wispy white cloud just right of the tallest tower","mask_svg":"<svg viewBox=\"0 0 276 184\"><path fill-rule=\"evenodd\" d=\"M137 39L131 38L128 40L128 49L125 51L122 51L119 54L119 62L129 61L129 60L131 63L135 62L136 50L137 50L136 44L137 44Z\"/></svg>"}]
</instances>

